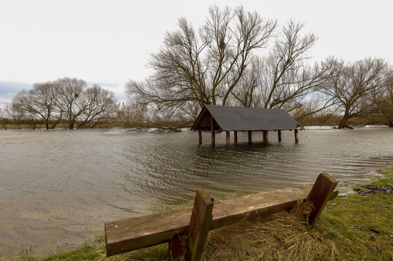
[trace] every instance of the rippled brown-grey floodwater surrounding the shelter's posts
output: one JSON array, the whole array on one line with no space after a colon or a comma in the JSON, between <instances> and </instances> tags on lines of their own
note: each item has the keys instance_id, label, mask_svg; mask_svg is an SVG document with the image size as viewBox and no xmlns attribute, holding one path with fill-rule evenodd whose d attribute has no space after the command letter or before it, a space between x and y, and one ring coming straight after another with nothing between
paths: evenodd
<instances>
[{"instance_id":1,"label":"rippled brown-grey floodwater surrounding the shelter's posts","mask_svg":"<svg viewBox=\"0 0 393 261\"><path fill-rule=\"evenodd\" d=\"M232 132L231 132L231 135ZM192 200L261 192L313 182L320 172L339 181L366 179L393 162L393 129L137 133L123 129L0 130L0 256L75 248L103 234L104 223ZM231 136L233 141L233 136Z\"/></svg>"}]
</instances>

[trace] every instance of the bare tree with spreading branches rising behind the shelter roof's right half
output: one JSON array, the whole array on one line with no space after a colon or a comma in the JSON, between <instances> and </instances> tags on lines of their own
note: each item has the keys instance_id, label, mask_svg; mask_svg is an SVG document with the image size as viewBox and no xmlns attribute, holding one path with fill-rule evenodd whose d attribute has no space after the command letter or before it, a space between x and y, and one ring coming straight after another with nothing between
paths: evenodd
<instances>
[{"instance_id":1,"label":"bare tree with spreading branches rising behind the shelter roof's right half","mask_svg":"<svg viewBox=\"0 0 393 261\"><path fill-rule=\"evenodd\" d=\"M253 59L241 86L232 92L238 105L282 108L288 112L297 110L300 119L333 104L334 99L318 94L318 89L329 76L332 59L314 66L307 63L317 37L314 34L302 36L303 27L303 23L290 20L283 26L270 53ZM310 99L318 102L310 102ZM305 103L318 106L299 109ZM305 113L299 114L301 111Z\"/></svg>"}]
</instances>

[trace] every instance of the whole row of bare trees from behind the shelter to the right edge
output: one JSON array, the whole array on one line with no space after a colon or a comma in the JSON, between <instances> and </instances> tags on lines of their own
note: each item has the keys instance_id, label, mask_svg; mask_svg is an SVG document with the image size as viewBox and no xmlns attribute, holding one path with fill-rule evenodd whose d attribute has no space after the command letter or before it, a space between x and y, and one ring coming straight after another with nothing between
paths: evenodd
<instances>
[{"instance_id":1,"label":"whole row of bare trees from behind the shelter to the right edge","mask_svg":"<svg viewBox=\"0 0 393 261\"><path fill-rule=\"evenodd\" d=\"M303 27L278 27L243 7L212 6L199 29L180 18L150 56L154 72L127 82L119 120L130 129L179 130L214 104L284 109L303 124L393 127L392 66L380 58L310 63L318 38Z\"/></svg>"}]
</instances>

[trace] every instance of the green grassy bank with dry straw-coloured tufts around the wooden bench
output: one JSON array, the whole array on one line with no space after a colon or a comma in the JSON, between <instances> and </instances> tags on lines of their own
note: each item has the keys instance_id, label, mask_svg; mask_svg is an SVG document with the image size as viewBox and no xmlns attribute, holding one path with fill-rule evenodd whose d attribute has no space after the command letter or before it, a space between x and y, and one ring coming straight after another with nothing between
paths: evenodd
<instances>
[{"instance_id":1,"label":"green grassy bank with dry straw-coloured tufts around the wooden bench","mask_svg":"<svg viewBox=\"0 0 393 261\"><path fill-rule=\"evenodd\" d=\"M369 185L393 185L393 169L381 171ZM361 186L349 184L346 186ZM329 201L314 228L303 217L309 204L291 212L209 232L206 260L393 260L393 195L351 194ZM369 227L378 230L373 232ZM23 260L167 260L167 244L106 258L103 236L77 250Z\"/></svg>"}]
</instances>

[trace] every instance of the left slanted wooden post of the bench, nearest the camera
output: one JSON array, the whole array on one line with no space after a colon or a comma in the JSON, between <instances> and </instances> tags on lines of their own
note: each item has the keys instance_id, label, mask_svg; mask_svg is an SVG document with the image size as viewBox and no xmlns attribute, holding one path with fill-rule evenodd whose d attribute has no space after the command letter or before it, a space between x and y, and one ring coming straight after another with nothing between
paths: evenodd
<instances>
[{"instance_id":1,"label":"left slanted wooden post of the bench, nearest the camera","mask_svg":"<svg viewBox=\"0 0 393 261\"><path fill-rule=\"evenodd\" d=\"M213 219L213 201L205 188L196 191L193 213L188 229L188 251L186 260L199 261L202 258L206 239Z\"/></svg>"}]
</instances>

